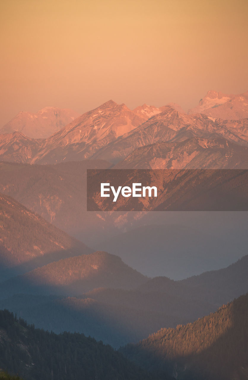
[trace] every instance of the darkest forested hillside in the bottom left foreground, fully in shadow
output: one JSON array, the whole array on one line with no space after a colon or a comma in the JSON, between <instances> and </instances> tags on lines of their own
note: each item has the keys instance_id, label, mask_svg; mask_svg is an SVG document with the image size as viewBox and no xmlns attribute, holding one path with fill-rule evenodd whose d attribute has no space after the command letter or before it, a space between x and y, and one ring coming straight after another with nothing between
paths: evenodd
<instances>
[{"instance_id":1,"label":"darkest forested hillside in the bottom left foreground, fully in shadow","mask_svg":"<svg viewBox=\"0 0 248 380\"><path fill-rule=\"evenodd\" d=\"M0 310L0 368L25 380L162 380L109 345L83 334L35 329L8 310Z\"/></svg>"}]
</instances>

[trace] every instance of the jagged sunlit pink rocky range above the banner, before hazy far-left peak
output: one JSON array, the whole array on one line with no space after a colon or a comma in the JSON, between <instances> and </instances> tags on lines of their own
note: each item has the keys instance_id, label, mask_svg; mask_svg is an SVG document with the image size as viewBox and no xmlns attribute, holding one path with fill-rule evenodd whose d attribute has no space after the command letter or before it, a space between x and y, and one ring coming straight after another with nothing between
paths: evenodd
<instances>
[{"instance_id":1,"label":"jagged sunlit pink rocky range above the banner, before hazy far-left peak","mask_svg":"<svg viewBox=\"0 0 248 380\"><path fill-rule=\"evenodd\" d=\"M223 120L216 111L214 116L207 113L210 105L218 109L227 103L229 106L232 101L237 103L237 108L240 107L240 113L235 111L239 117ZM186 115L172 103L160 108L144 104L132 111L125 104L118 105L110 100L85 112L48 138L35 141L30 134L28 138L24 136L21 128L16 128L17 132L5 128L4 132L12 133L0 136L0 159L54 164L97 158L119 163L120 168L125 165L141 165L140 168L147 165L152 168L184 168L188 165L193 168L245 168L247 93L228 97L211 91L200 103L199 109ZM236 106L231 106L232 110ZM54 123L52 117L50 120ZM136 153L142 147L147 147L148 152L146 148ZM120 163L123 160L125 162Z\"/></svg>"}]
</instances>

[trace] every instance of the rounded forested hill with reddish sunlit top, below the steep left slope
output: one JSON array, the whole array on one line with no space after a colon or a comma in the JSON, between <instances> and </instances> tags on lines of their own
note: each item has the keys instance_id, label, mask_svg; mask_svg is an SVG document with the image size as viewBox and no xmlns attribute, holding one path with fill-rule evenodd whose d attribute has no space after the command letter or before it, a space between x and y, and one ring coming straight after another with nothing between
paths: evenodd
<instances>
[{"instance_id":1,"label":"rounded forested hill with reddish sunlit top, below the steep left slope","mask_svg":"<svg viewBox=\"0 0 248 380\"><path fill-rule=\"evenodd\" d=\"M131 289L148 277L107 252L68 257L6 280L0 298L16 293L79 295L99 287Z\"/></svg>"}]
</instances>

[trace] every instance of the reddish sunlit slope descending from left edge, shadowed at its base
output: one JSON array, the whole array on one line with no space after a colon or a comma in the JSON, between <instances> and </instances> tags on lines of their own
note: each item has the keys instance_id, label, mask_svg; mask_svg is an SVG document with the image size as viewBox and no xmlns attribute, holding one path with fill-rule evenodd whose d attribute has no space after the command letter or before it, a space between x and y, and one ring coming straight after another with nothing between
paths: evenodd
<instances>
[{"instance_id":1,"label":"reddish sunlit slope descending from left edge, shadowed at its base","mask_svg":"<svg viewBox=\"0 0 248 380\"><path fill-rule=\"evenodd\" d=\"M61 258L90 252L82 242L13 198L0 194L1 280Z\"/></svg>"}]
</instances>

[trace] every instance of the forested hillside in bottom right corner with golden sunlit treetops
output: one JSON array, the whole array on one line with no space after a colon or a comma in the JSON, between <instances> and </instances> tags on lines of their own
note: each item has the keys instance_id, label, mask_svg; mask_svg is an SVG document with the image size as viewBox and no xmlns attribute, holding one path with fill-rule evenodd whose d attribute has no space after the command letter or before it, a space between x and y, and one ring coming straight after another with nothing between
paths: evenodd
<instances>
[{"instance_id":1,"label":"forested hillside in bottom right corner with golden sunlit treetops","mask_svg":"<svg viewBox=\"0 0 248 380\"><path fill-rule=\"evenodd\" d=\"M176 329L161 329L121 351L146 369L182 380L248 377L248 293L215 313Z\"/></svg>"}]
</instances>

